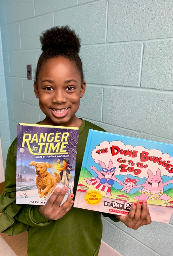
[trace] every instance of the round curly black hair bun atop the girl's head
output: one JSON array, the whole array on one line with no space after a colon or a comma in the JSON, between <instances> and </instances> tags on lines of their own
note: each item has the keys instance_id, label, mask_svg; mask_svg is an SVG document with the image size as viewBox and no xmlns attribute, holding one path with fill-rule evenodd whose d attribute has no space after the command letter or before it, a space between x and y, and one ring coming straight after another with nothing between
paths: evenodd
<instances>
[{"instance_id":1,"label":"round curly black hair bun atop the girl's head","mask_svg":"<svg viewBox=\"0 0 173 256\"><path fill-rule=\"evenodd\" d=\"M41 49L64 49L72 48L77 53L80 51L81 39L76 35L74 30L69 26L55 26L46 31L43 31L40 36Z\"/></svg>"}]
</instances>

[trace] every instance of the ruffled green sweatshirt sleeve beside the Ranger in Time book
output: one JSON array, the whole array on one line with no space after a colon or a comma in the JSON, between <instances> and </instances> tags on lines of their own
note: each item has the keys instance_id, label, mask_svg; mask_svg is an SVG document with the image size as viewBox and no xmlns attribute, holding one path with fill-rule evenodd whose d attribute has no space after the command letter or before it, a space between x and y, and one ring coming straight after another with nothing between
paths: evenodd
<instances>
[{"instance_id":1,"label":"ruffled green sweatshirt sleeve beside the Ranger in Time book","mask_svg":"<svg viewBox=\"0 0 173 256\"><path fill-rule=\"evenodd\" d=\"M0 229L2 233L17 235L29 226L47 226L51 220L45 218L38 205L16 205L16 139L9 148L5 171L5 189L0 196Z\"/></svg>"}]
</instances>

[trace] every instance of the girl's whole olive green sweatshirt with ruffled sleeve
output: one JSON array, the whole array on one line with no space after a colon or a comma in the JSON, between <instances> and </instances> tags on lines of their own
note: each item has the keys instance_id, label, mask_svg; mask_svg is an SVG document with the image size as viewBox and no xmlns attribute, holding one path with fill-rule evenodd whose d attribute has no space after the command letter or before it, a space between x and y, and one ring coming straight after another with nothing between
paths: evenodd
<instances>
[{"instance_id":1,"label":"girl's whole olive green sweatshirt with ruffled sleeve","mask_svg":"<svg viewBox=\"0 0 173 256\"><path fill-rule=\"evenodd\" d=\"M38 123L37 123L38 124ZM74 194L77 189L82 159L89 129L104 131L82 120L79 129L78 153L74 179ZM99 253L102 222L100 212L72 208L59 220L49 220L37 205L16 205L16 143L9 148L5 172L5 189L0 196L0 229L10 236L20 234L29 227L28 256L97 256ZM103 213L114 222L114 214Z\"/></svg>"}]
</instances>

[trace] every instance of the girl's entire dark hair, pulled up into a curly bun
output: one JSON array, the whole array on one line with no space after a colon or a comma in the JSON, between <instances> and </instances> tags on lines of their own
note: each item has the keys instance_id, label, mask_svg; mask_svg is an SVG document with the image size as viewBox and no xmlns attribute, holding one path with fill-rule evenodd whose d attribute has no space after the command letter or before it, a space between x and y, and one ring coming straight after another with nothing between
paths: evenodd
<instances>
[{"instance_id":1,"label":"girl's entire dark hair, pulled up into a curly bun","mask_svg":"<svg viewBox=\"0 0 173 256\"><path fill-rule=\"evenodd\" d=\"M43 63L47 60L63 56L76 64L77 69L84 80L82 61L78 55L81 39L69 26L55 26L43 31L40 36L42 53L39 57L35 80L37 81Z\"/></svg>"}]
</instances>

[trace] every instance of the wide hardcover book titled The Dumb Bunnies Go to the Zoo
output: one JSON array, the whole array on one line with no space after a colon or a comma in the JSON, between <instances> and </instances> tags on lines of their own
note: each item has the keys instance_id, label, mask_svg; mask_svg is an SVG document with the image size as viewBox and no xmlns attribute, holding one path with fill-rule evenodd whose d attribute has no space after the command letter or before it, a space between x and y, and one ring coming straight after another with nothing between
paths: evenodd
<instances>
[{"instance_id":1,"label":"wide hardcover book titled The Dumb Bunnies Go to the Zoo","mask_svg":"<svg viewBox=\"0 0 173 256\"><path fill-rule=\"evenodd\" d=\"M74 207L126 215L144 199L173 207L173 145L90 129Z\"/></svg>"}]
</instances>

